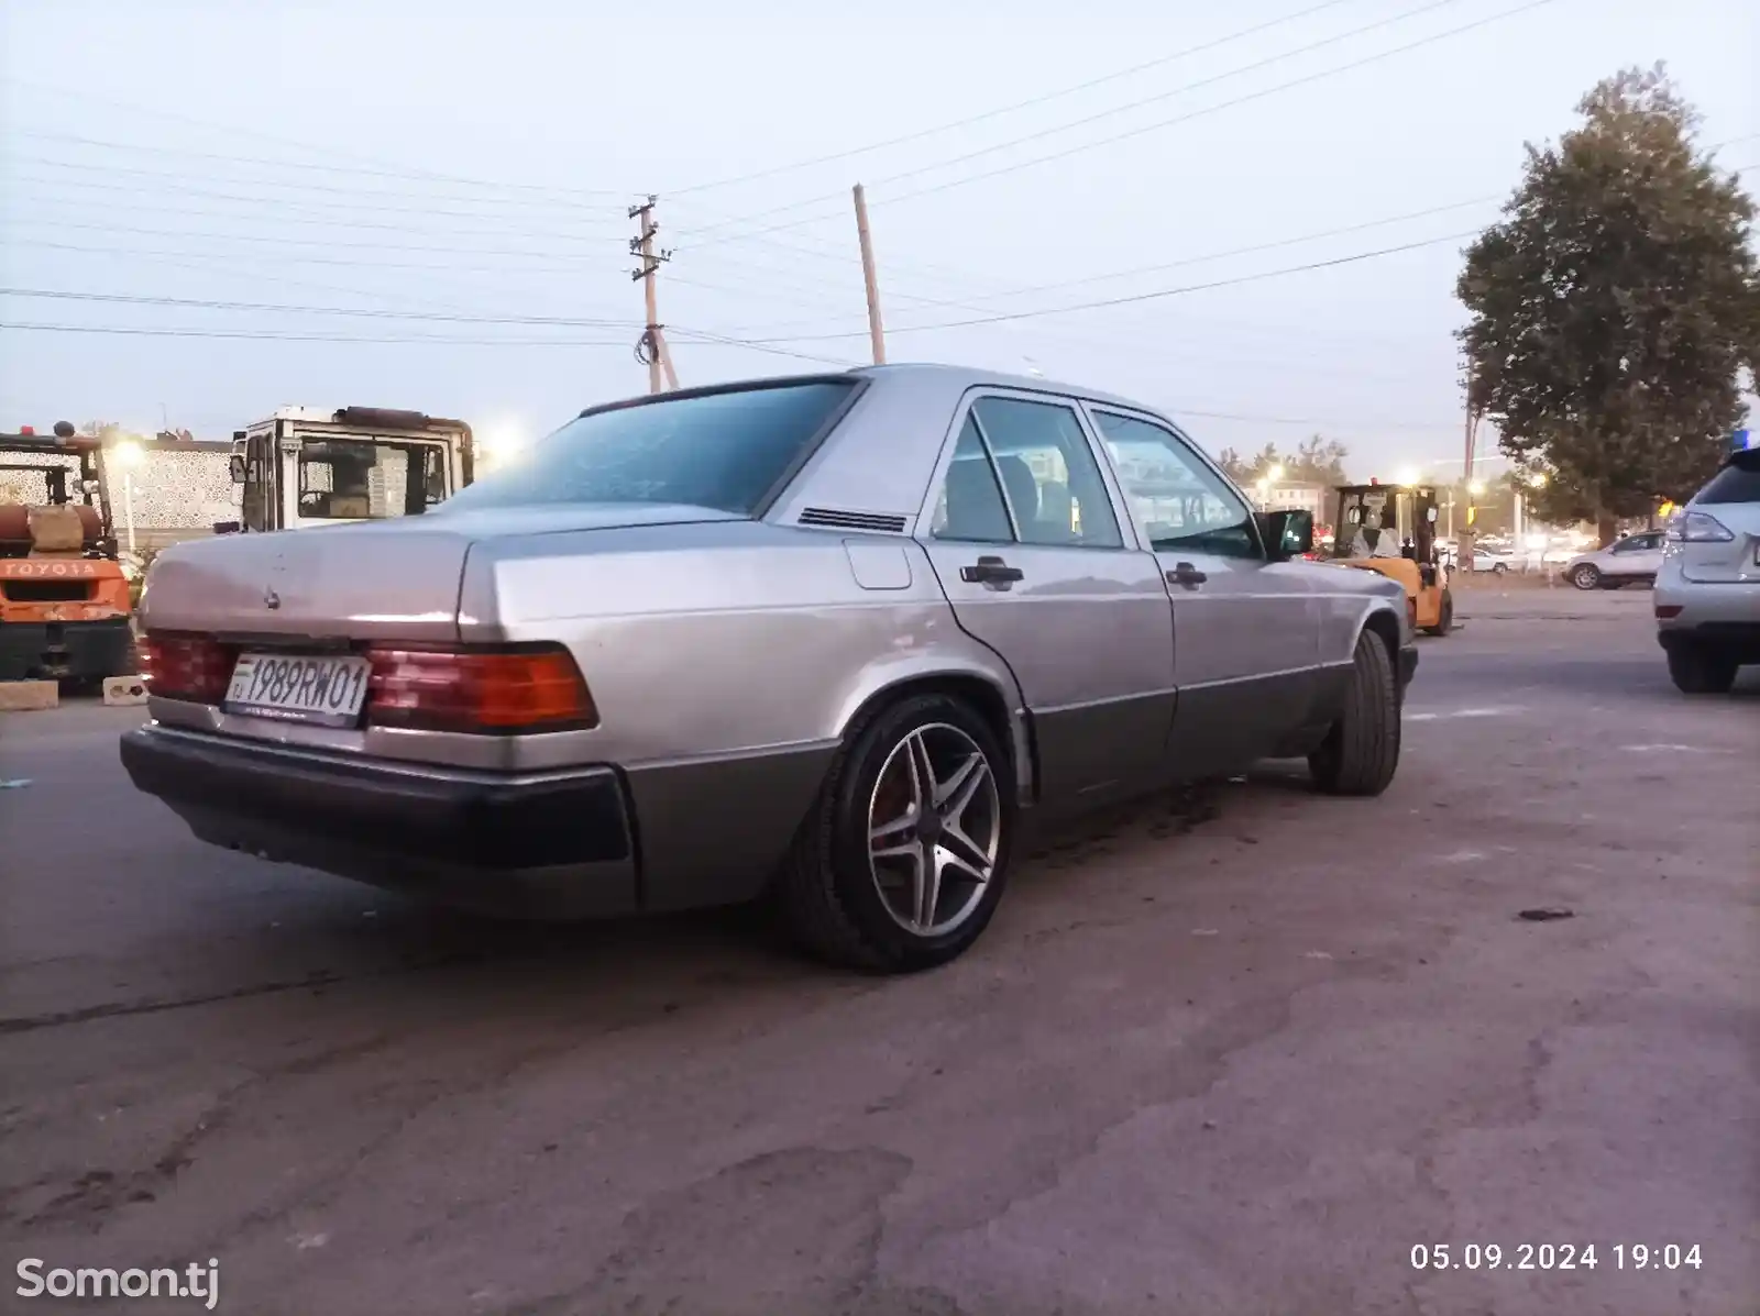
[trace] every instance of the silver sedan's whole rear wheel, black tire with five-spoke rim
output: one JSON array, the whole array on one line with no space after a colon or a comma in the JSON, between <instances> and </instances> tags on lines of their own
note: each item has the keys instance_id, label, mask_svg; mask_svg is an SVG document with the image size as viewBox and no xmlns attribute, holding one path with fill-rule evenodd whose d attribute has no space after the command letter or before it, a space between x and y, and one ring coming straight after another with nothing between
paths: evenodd
<instances>
[{"instance_id":1,"label":"silver sedan's whole rear wheel, black tire with five-spoke rim","mask_svg":"<svg viewBox=\"0 0 1760 1316\"><path fill-rule=\"evenodd\" d=\"M964 954L1007 885L1012 778L996 734L957 698L915 695L866 714L776 881L796 941L862 973Z\"/></svg>"}]
</instances>

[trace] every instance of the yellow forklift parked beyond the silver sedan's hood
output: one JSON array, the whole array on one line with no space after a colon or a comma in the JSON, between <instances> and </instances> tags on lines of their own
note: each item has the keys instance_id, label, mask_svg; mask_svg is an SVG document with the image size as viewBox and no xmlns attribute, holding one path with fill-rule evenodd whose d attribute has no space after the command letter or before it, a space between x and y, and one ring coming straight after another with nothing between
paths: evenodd
<instances>
[{"instance_id":1,"label":"yellow forklift parked beyond the silver sedan's hood","mask_svg":"<svg viewBox=\"0 0 1760 1316\"><path fill-rule=\"evenodd\" d=\"M1429 484L1341 484L1332 489L1332 544L1324 561L1380 572L1406 588L1412 625L1454 628L1448 568L1436 551L1436 489Z\"/></svg>"}]
</instances>

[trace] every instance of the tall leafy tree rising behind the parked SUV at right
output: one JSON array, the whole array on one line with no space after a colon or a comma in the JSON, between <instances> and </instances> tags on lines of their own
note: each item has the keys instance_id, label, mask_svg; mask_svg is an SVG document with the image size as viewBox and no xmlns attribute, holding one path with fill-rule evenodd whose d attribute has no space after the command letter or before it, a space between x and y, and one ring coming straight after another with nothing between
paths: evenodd
<instances>
[{"instance_id":1,"label":"tall leafy tree rising behind the parked SUV at right","mask_svg":"<svg viewBox=\"0 0 1760 1316\"><path fill-rule=\"evenodd\" d=\"M1683 501L1741 417L1760 347L1753 202L1693 143L1663 65L1579 104L1582 127L1528 146L1521 186L1457 283L1468 405L1500 429L1554 523Z\"/></svg>"}]
</instances>

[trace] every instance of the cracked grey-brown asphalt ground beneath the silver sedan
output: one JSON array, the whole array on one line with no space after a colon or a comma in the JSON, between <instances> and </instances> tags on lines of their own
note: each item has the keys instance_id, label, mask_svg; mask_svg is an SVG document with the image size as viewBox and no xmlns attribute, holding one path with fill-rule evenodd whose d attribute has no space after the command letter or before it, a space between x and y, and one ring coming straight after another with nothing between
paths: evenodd
<instances>
[{"instance_id":1,"label":"cracked grey-brown asphalt ground beneath the silver sedan","mask_svg":"<svg viewBox=\"0 0 1760 1316\"><path fill-rule=\"evenodd\" d=\"M1642 591L1461 610L1380 801L1109 816L892 982L216 853L134 711L11 714L0 1311L77 1307L37 1256L262 1316L1753 1316L1760 681L1679 697Z\"/></svg>"}]
</instances>

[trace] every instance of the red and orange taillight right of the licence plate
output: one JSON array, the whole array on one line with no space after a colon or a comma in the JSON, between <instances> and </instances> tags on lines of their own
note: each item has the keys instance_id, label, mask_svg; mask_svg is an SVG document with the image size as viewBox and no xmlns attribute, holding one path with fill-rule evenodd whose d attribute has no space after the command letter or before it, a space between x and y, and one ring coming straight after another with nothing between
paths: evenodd
<instances>
[{"instance_id":1,"label":"red and orange taillight right of the licence plate","mask_svg":"<svg viewBox=\"0 0 1760 1316\"><path fill-rule=\"evenodd\" d=\"M598 725L593 697L561 646L373 647L368 721L444 732L563 732Z\"/></svg>"}]
</instances>

